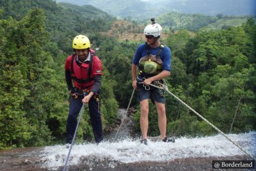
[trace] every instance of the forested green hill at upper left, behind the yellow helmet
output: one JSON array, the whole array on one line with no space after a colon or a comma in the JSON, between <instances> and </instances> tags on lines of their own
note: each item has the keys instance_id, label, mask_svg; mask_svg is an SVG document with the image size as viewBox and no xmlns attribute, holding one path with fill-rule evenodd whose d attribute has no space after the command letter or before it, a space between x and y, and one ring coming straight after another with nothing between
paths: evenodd
<instances>
[{"instance_id":1,"label":"forested green hill at upper left, behind the yellow helmet","mask_svg":"<svg viewBox=\"0 0 256 171\"><path fill-rule=\"evenodd\" d=\"M109 30L114 19L91 5L80 7L72 4L57 4L52 0L1 0L0 9L3 13L0 19L11 16L20 20L32 8L43 9L46 16L46 30L52 41L57 42L60 49L65 52L72 52L70 42L74 36Z\"/></svg>"}]
</instances>

